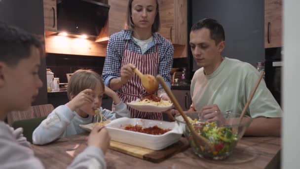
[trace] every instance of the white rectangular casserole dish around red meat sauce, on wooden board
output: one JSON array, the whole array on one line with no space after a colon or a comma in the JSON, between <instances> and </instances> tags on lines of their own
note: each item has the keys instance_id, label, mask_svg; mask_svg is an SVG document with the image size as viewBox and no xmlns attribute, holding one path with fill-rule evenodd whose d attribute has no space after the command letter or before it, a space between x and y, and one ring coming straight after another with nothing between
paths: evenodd
<instances>
[{"instance_id":1,"label":"white rectangular casserole dish around red meat sauce, on wooden board","mask_svg":"<svg viewBox=\"0 0 300 169\"><path fill-rule=\"evenodd\" d=\"M141 125L143 128L153 127L157 125L158 127L161 127L163 129L169 128L171 130L161 135L153 135L122 129L127 125ZM89 131L91 130L90 126L90 124L89 126L80 125L80 127ZM146 119L119 118L113 120L105 127L107 127L107 129L109 130L112 140L148 148L151 150L164 149L169 145L172 145L173 143L179 141L183 134L183 130L178 126L176 122L164 122Z\"/></svg>"}]
</instances>

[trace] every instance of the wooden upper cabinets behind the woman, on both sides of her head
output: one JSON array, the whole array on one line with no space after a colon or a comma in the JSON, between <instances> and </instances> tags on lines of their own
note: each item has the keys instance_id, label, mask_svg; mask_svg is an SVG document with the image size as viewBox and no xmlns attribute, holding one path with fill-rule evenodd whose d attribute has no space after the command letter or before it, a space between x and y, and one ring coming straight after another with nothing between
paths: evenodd
<instances>
[{"instance_id":1,"label":"wooden upper cabinets behind the woman, on both sides of her head","mask_svg":"<svg viewBox=\"0 0 300 169\"><path fill-rule=\"evenodd\" d=\"M106 29L99 36L98 42L106 41L113 33L124 29L128 0L108 0L111 6ZM187 0L159 0L159 34L173 44L186 45L188 29Z\"/></svg>"}]
</instances>

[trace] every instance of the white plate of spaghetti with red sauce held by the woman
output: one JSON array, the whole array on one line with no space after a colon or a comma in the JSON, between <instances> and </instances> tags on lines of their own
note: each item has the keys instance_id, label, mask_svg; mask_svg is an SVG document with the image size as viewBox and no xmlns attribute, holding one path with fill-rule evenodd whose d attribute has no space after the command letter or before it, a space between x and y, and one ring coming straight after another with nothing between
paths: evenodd
<instances>
[{"instance_id":1,"label":"white plate of spaghetti with red sauce held by the woman","mask_svg":"<svg viewBox=\"0 0 300 169\"><path fill-rule=\"evenodd\" d=\"M173 108L173 103L166 100L160 100L159 102L154 102L147 99L143 101L141 101L141 99L137 99L135 101L127 103L127 105L141 112L153 112L153 113L161 113Z\"/></svg>"}]
</instances>

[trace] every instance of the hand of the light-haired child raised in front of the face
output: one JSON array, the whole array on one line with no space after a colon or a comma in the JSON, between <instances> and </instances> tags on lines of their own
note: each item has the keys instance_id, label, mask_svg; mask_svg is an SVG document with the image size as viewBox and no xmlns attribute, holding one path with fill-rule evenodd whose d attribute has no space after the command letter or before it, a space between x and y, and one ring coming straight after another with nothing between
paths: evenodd
<instances>
[{"instance_id":1,"label":"hand of the light-haired child raised in front of the face","mask_svg":"<svg viewBox=\"0 0 300 169\"><path fill-rule=\"evenodd\" d=\"M92 89L85 89L81 91L79 94L77 94L69 103L67 103L67 106L72 110L75 111L76 109L80 108L81 106L90 103L92 104L94 102L93 98L93 90Z\"/></svg>"}]
</instances>

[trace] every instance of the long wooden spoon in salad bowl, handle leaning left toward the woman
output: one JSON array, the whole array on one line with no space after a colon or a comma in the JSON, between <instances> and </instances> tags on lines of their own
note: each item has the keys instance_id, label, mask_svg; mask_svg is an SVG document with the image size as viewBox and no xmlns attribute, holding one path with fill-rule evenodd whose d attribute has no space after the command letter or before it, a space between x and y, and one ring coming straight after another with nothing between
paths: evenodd
<instances>
[{"instance_id":1,"label":"long wooden spoon in salad bowl, handle leaning left toward the woman","mask_svg":"<svg viewBox=\"0 0 300 169\"><path fill-rule=\"evenodd\" d=\"M170 90L170 88L167 86L167 84L165 83L165 81L162 79L162 77L160 75L157 75L156 79L161 84L162 88L166 91L166 93L168 94L168 96L170 97L170 99L173 102L175 108L179 111L179 113L181 114L181 116L186 121L188 129L190 130L190 132L191 132L191 134L193 136L193 140L194 140L196 146L198 146L198 148L201 149L200 145L204 145L203 147L205 147L205 148L208 147L213 152L214 151L213 144L210 143L208 141L208 139L206 139L205 137L203 137L202 135L200 135L199 133L197 133L194 130L194 127L192 127L192 125L189 123L186 114L183 112L180 104L178 103L178 101L175 98L174 94L172 93L172 91Z\"/></svg>"}]
</instances>

